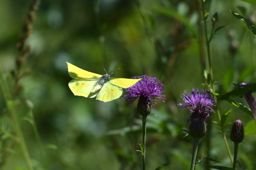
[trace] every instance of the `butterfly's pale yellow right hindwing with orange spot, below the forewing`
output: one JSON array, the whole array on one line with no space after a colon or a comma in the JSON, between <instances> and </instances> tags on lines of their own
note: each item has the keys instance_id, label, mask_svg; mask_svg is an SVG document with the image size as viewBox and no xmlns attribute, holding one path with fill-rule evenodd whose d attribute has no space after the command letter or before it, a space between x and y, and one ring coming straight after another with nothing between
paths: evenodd
<instances>
[{"instance_id":1,"label":"butterfly's pale yellow right hindwing with orange spot, below the forewing","mask_svg":"<svg viewBox=\"0 0 256 170\"><path fill-rule=\"evenodd\" d=\"M109 102L111 100L119 98L123 93L123 89L111 84L110 81L106 82L100 89L98 95L96 96L97 100L103 102Z\"/></svg>"}]
</instances>

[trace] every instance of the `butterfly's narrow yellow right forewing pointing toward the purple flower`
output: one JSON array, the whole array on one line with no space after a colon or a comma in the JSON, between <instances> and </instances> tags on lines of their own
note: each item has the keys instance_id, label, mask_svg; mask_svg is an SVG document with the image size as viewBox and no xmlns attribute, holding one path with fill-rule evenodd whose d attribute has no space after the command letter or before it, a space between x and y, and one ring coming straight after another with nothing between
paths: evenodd
<instances>
[{"instance_id":1,"label":"butterfly's narrow yellow right forewing pointing toward the purple flower","mask_svg":"<svg viewBox=\"0 0 256 170\"><path fill-rule=\"evenodd\" d=\"M125 79L125 78L110 78L109 81L111 84L114 84L121 88L129 88L133 86L135 83L140 81L141 79Z\"/></svg>"}]
</instances>

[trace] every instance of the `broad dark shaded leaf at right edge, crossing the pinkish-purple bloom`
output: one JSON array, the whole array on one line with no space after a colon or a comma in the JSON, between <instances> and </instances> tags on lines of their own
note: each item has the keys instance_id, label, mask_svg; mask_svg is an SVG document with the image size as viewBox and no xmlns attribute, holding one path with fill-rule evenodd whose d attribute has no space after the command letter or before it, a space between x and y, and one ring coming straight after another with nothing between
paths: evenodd
<instances>
[{"instance_id":1,"label":"broad dark shaded leaf at right edge, crossing the pinkish-purple bloom","mask_svg":"<svg viewBox=\"0 0 256 170\"><path fill-rule=\"evenodd\" d=\"M218 100L226 100L226 99L233 99L237 97L242 97L243 95L247 93L254 93L256 92L256 83L251 83L248 84L247 86L244 87L239 87L237 89L234 89L222 96L218 97Z\"/></svg>"}]
</instances>

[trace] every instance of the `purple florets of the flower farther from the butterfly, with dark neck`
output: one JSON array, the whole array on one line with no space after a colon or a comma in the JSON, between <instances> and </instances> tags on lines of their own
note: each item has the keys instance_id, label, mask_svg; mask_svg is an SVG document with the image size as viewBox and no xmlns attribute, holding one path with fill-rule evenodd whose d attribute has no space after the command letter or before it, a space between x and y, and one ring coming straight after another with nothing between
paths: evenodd
<instances>
[{"instance_id":1,"label":"purple florets of the flower farther from the butterfly, with dark neck","mask_svg":"<svg viewBox=\"0 0 256 170\"><path fill-rule=\"evenodd\" d=\"M191 112L189 121L196 118L206 118L211 112L214 112L211 107L215 106L215 102L212 99L212 95L207 93L206 90L202 89L201 93L199 93L198 89L195 91L193 88L191 94L188 94L186 90L184 92L183 97L181 95L180 97L185 104L178 103L178 105L181 106L180 108L187 108Z\"/></svg>"}]
</instances>

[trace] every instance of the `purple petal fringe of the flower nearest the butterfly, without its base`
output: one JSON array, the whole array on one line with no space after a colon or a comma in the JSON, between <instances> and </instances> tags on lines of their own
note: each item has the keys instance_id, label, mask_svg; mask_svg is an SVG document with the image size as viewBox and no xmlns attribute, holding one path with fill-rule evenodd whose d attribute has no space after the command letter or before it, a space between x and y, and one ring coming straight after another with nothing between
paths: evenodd
<instances>
[{"instance_id":1,"label":"purple petal fringe of the flower nearest the butterfly, without its base","mask_svg":"<svg viewBox=\"0 0 256 170\"><path fill-rule=\"evenodd\" d=\"M165 95L161 94L164 91L162 90L164 84L160 83L160 81L155 77L148 77L146 75L143 76L135 76L132 79L142 79L134 84L132 87L129 87L126 90L128 93L124 97L126 98L127 103L132 103L137 98L143 97L147 101L149 100L150 104L155 103L157 99L151 99L150 97L155 97L159 99L166 99L164 98ZM163 100L162 100L163 101ZM164 102L164 101L163 101ZM154 104L153 104L154 105Z\"/></svg>"}]
</instances>

